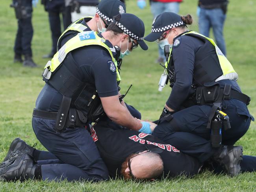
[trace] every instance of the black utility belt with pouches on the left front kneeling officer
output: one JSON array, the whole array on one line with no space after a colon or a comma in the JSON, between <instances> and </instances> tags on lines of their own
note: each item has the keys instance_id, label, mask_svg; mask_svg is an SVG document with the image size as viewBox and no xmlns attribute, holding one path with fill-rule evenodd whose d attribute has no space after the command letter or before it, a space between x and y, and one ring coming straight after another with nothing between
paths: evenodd
<instances>
[{"instance_id":1,"label":"black utility belt with pouches on the left front kneeling officer","mask_svg":"<svg viewBox=\"0 0 256 192\"><path fill-rule=\"evenodd\" d=\"M62 127L62 125L69 128L85 127L87 125L87 117L81 111L74 108L69 109L66 120L64 119L64 114L63 116L61 114L60 118L58 119L58 112L43 111L36 108L34 108L32 116L56 120L56 131L61 131L62 129L58 127Z\"/></svg>"}]
</instances>

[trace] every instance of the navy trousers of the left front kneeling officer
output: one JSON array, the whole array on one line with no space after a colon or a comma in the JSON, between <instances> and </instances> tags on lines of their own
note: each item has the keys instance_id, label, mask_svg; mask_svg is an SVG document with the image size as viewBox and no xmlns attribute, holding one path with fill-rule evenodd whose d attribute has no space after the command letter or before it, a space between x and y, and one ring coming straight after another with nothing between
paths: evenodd
<instances>
[{"instance_id":1,"label":"navy trousers of the left front kneeling officer","mask_svg":"<svg viewBox=\"0 0 256 192\"><path fill-rule=\"evenodd\" d=\"M32 126L37 139L51 153L43 151L36 155L38 159L46 160L45 163L41 162L43 180L101 181L108 179L106 165L85 128L67 128L62 133L56 133L55 120L35 117L32 119Z\"/></svg>"}]
</instances>

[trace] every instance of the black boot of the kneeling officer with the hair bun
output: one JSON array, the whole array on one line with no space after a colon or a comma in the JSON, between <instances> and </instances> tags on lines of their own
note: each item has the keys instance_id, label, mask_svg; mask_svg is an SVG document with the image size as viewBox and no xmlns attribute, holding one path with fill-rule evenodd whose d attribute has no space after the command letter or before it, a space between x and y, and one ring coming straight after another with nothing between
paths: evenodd
<instances>
[{"instance_id":1,"label":"black boot of the kneeling officer with the hair bun","mask_svg":"<svg viewBox=\"0 0 256 192\"><path fill-rule=\"evenodd\" d=\"M214 160L224 166L230 176L236 176L240 172L240 162L243 159L242 146L222 146L214 155Z\"/></svg>"}]
</instances>

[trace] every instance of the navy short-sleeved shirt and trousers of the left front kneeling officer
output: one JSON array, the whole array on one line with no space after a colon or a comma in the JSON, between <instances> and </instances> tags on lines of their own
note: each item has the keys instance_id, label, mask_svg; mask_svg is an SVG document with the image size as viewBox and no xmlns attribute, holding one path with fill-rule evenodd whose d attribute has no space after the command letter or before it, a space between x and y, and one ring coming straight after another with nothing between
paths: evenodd
<instances>
[{"instance_id":1,"label":"navy short-sleeved shirt and trousers of the left front kneeling officer","mask_svg":"<svg viewBox=\"0 0 256 192\"><path fill-rule=\"evenodd\" d=\"M100 34L98 36L102 37ZM109 41L105 44L113 48ZM113 55L115 54L113 49ZM118 94L117 76L115 71L110 69L109 61L112 62L107 51L100 46L91 45L69 52L62 65L71 70L80 81L93 85L99 97L108 97ZM36 109L58 111L62 98L58 90L46 83L37 98ZM91 122L87 121L87 123ZM64 163L42 166L43 179L67 179L69 181L108 179L106 165L100 158L89 132L84 127L76 127L66 128L65 131L56 133L55 125L56 120L38 117L32 119L33 130L38 140Z\"/></svg>"}]
</instances>

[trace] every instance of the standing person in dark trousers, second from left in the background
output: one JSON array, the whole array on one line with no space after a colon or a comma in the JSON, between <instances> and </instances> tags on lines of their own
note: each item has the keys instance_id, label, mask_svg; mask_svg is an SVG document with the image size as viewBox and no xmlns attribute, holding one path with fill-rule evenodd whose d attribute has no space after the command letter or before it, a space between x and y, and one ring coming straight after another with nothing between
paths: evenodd
<instances>
[{"instance_id":1,"label":"standing person in dark trousers, second from left in the background","mask_svg":"<svg viewBox=\"0 0 256 192\"><path fill-rule=\"evenodd\" d=\"M42 4L45 5L45 11L48 12L50 30L52 34L52 50L50 54L43 55L43 58L52 58L56 53L57 42L61 35L61 21L59 15L62 14L64 29L66 29L71 22L66 19L64 0L42 0Z\"/></svg>"}]
</instances>

